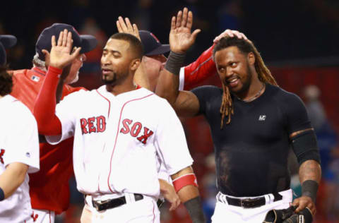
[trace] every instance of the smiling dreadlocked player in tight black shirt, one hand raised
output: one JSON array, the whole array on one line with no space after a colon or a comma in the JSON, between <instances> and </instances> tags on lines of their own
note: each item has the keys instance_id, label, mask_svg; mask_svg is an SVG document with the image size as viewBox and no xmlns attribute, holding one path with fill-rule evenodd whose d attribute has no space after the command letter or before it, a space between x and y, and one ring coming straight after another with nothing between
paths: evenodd
<instances>
[{"instance_id":1,"label":"smiling dreadlocked player in tight black shirt, one hand raised","mask_svg":"<svg viewBox=\"0 0 339 223\"><path fill-rule=\"evenodd\" d=\"M302 101L278 87L254 44L224 37L213 49L222 88L202 86L179 91L179 68L200 30L191 33L193 16L184 8L172 18L171 52L157 94L179 116L203 114L215 145L218 195L213 222L263 222L271 209L290 207L292 191L287 153L299 161L302 196L295 212L313 214L321 167L314 129Z\"/></svg>"}]
</instances>

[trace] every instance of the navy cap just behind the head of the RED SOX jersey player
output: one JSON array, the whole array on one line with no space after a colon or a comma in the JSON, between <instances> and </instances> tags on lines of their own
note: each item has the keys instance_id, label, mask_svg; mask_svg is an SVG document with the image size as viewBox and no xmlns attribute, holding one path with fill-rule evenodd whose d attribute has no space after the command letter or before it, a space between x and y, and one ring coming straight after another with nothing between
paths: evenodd
<instances>
[{"instance_id":1,"label":"navy cap just behind the head of the RED SOX jersey player","mask_svg":"<svg viewBox=\"0 0 339 223\"><path fill-rule=\"evenodd\" d=\"M157 40L157 37L155 37L152 32L140 30L139 35L141 38L141 43L143 44L145 56L153 56L169 52L169 44L161 44L161 42Z\"/></svg>"}]
</instances>

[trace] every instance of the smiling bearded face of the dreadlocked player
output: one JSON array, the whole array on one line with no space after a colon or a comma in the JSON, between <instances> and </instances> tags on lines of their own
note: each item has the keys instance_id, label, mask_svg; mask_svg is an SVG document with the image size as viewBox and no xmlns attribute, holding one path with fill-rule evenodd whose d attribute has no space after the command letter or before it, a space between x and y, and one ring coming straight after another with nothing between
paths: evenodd
<instances>
[{"instance_id":1,"label":"smiling bearded face of the dreadlocked player","mask_svg":"<svg viewBox=\"0 0 339 223\"><path fill-rule=\"evenodd\" d=\"M227 47L215 52L215 64L222 83L236 95L249 90L252 83L254 54L244 54L238 47Z\"/></svg>"}]
</instances>

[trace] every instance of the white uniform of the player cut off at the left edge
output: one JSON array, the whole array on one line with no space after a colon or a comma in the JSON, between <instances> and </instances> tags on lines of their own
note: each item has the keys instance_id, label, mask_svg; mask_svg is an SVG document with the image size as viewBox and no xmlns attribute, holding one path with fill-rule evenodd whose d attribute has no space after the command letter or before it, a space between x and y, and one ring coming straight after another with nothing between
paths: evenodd
<instances>
[{"instance_id":1,"label":"white uniform of the player cut off at the left edge","mask_svg":"<svg viewBox=\"0 0 339 223\"><path fill-rule=\"evenodd\" d=\"M0 174L13 162L27 164L28 173L38 171L39 139L34 116L11 95L0 98L0 107ZM32 221L28 181L26 174L16 192L0 202L0 222Z\"/></svg>"}]
</instances>

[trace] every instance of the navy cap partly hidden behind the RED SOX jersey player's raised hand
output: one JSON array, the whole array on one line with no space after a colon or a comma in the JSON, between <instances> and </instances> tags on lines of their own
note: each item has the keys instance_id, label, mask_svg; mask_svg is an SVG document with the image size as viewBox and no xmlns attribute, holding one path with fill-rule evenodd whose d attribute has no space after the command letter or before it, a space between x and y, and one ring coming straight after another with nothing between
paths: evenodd
<instances>
[{"instance_id":1,"label":"navy cap partly hidden behind the RED SOX jersey player's raised hand","mask_svg":"<svg viewBox=\"0 0 339 223\"><path fill-rule=\"evenodd\" d=\"M52 36L54 35L56 41L58 41L60 32L64 31L65 29L72 32L73 47L81 47L81 54L90 52L97 46L97 39L95 39L93 35L79 35L78 31L76 31L76 29L73 28L72 25L64 23L54 23L52 26L45 28L37 39L37 43L35 44L35 51L37 52L37 54L39 54L39 59L44 60L42 49L46 49L48 52L51 51Z\"/></svg>"}]
</instances>

